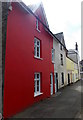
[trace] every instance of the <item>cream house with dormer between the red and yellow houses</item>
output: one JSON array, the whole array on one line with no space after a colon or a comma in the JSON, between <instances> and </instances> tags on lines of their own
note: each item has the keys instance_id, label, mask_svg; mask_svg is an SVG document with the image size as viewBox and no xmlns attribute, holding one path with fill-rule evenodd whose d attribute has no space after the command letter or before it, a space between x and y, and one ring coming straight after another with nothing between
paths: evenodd
<instances>
[{"instance_id":1,"label":"cream house with dormer between the red and yellow houses","mask_svg":"<svg viewBox=\"0 0 83 120\"><path fill-rule=\"evenodd\" d=\"M55 92L65 85L67 85L66 81L66 46L64 41L63 32L55 34L55 36L59 39L57 41L56 38L53 39L53 51L54 51L54 79L55 79ZM62 43L62 44L61 44Z\"/></svg>"}]
</instances>

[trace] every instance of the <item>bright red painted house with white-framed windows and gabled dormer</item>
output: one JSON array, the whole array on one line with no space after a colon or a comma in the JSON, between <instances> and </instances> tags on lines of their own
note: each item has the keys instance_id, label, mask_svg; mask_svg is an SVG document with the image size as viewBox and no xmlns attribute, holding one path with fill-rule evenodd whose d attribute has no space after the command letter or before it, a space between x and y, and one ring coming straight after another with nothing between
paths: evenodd
<instances>
[{"instance_id":1,"label":"bright red painted house with white-framed windows and gabled dormer","mask_svg":"<svg viewBox=\"0 0 83 120\"><path fill-rule=\"evenodd\" d=\"M50 97L55 91L53 36L48 29L43 6L39 5L34 13L29 10L31 6L23 3L15 2L11 6L6 36L5 118Z\"/></svg>"}]
</instances>

